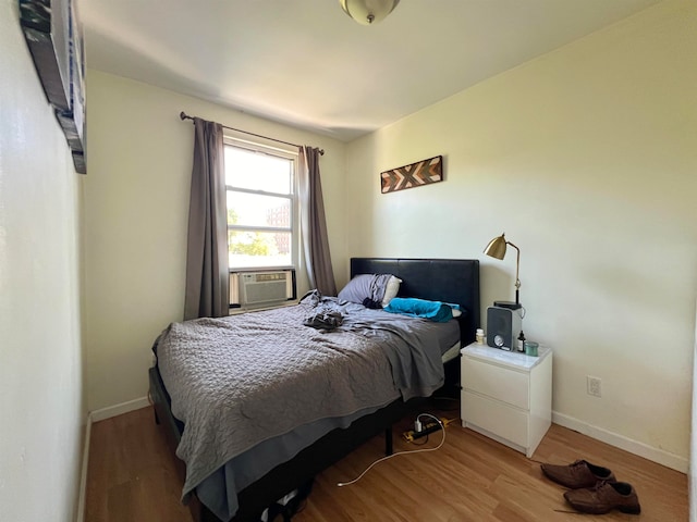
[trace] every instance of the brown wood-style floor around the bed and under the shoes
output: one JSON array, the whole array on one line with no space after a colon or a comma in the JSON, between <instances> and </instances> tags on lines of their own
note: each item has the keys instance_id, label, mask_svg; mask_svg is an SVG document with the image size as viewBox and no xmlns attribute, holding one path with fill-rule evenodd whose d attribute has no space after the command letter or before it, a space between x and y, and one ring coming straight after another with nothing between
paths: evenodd
<instances>
[{"instance_id":1,"label":"brown wood-style floor around the bed and under the shoes","mask_svg":"<svg viewBox=\"0 0 697 522\"><path fill-rule=\"evenodd\" d=\"M433 412L433 410L429 410ZM453 411L439 417L456 417ZM404 430L408 430L405 420ZM412 420L413 422L413 420ZM395 451L417 449L396 440ZM437 446L440 433L428 445ZM438 451L382 457L376 437L321 473L297 522L539 522L688 520L687 477L612 446L552 424L533 459L526 459L457 422L448 426ZM568 463L586 459L612 469L617 480L636 488L641 514L613 511L604 515L573 512L564 488L541 474L537 461ZM87 475L86 522L192 522L179 498L182 483L166 438L144 408L93 425Z\"/></svg>"}]
</instances>

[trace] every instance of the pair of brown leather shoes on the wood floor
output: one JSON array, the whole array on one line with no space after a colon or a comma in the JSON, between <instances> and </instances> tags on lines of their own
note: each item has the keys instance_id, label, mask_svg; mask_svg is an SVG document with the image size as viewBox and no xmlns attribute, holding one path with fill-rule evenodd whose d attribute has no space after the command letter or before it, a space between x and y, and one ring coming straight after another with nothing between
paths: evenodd
<instances>
[{"instance_id":1,"label":"pair of brown leather shoes on the wood floor","mask_svg":"<svg viewBox=\"0 0 697 522\"><path fill-rule=\"evenodd\" d=\"M617 482L608 468L577 460L568 465L541 464L541 470L552 481L568 487L566 501L577 511L603 514L613 509L623 513L639 514L639 498L632 484Z\"/></svg>"}]
</instances>

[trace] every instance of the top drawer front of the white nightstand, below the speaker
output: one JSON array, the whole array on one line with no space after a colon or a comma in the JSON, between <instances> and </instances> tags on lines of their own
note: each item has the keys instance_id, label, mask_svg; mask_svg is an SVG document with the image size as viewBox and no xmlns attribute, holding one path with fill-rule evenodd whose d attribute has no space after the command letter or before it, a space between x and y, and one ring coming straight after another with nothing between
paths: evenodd
<instances>
[{"instance_id":1,"label":"top drawer front of the white nightstand, below the speaker","mask_svg":"<svg viewBox=\"0 0 697 522\"><path fill-rule=\"evenodd\" d=\"M470 357L462 358L462 386L508 402L523 410L529 408L529 374L512 371Z\"/></svg>"}]
</instances>

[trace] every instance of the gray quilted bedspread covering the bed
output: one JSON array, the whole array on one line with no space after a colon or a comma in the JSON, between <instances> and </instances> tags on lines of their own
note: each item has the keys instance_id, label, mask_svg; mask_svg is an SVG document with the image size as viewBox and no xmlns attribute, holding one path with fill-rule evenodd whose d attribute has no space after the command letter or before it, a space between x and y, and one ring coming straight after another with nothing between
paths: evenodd
<instances>
[{"instance_id":1,"label":"gray quilted bedspread covering the bed","mask_svg":"<svg viewBox=\"0 0 697 522\"><path fill-rule=\"evenodd\" d=\"M317 307L340 312L342 324L304 326ZM185 424L176 450L186 463L183 495L231 459L304 425L400 395L430 395L443 368L433 332L418 331L424 322L322 298L171 324L157 357L172 413Z\"/></svg>"}]
</instances>

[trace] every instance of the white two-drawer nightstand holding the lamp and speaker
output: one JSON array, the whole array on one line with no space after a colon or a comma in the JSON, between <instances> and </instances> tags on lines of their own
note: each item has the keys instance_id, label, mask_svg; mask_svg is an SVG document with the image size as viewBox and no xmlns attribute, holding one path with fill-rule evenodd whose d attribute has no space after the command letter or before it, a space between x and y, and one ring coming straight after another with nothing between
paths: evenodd
<instances>
[{"instance_id":1,"label":"white two-drawer nightstand holding the lamp and speaker","mask_svg":"<svg viewBox=\"0 0 697 522\"><path fill-rule=\"evenodd\" d=\"M530 458L552 422L552 350L472 344L461 353L462 425Z\"/></svg>"}]
</instances>

